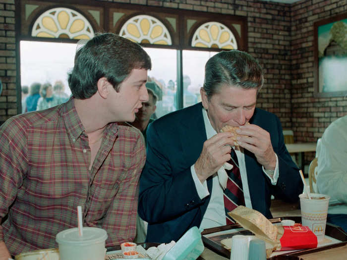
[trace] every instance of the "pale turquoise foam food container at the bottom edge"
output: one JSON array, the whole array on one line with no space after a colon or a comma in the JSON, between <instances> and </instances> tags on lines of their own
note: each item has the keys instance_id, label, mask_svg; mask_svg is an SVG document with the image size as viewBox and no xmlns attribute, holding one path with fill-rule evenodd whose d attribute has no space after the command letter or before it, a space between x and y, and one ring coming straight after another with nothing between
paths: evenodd
<instances>
[{"instance_id":1,"label":"pale turquoise foam food container at the bottom edge","mask_svg":"<svg viewBox=\"0 0 347 260\"><path fill-rule=\"evenodd\" d=\"M197 227L192 227L165 254L163 260L195 260L203 251L201 233Z\"/></svg>"}]
</instances>

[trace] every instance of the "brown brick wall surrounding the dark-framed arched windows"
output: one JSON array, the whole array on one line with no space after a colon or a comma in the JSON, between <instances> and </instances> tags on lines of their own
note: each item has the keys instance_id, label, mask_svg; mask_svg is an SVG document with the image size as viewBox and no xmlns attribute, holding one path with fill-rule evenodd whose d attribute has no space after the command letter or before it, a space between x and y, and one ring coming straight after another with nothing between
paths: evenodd
<instances>
[{"instance_id":1,"label":"brown brick wall surrounding the dark-framed arched windows","mask_svg":"<svg viewBox=\"0 0 347 260\"><path fill-rule=\"evenodd\" d=\"M266 77L258 106L277 114L297 142L315 142L330 122L347 114L346 99L313 97L313 23L346 12L346 0L113 1L247 16L248 51ZM0 123L17 113L14 26L14 0L0 0Z\"/></svg>"}]
</instances>

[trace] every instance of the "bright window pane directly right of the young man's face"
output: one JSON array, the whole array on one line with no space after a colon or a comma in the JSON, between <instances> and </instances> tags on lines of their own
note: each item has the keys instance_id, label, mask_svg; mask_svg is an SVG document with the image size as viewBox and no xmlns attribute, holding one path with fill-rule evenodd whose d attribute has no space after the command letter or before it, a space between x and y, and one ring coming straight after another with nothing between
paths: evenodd
<instances>
[{"instance_id":1,"label":"bright window pane directly right of the young man's face","mask_svg":"<svg viewBox=\"0 0 347 260\"><path fill-rule=\"evenodd\" d=\"M153 115L153 118L156 119L177 110L177 51L156 48L144 49L152 60L152 70L148 71L148 82L154 81L156 83L154 88L158 101L156 112Z\"/></svg>"}]
</instances>

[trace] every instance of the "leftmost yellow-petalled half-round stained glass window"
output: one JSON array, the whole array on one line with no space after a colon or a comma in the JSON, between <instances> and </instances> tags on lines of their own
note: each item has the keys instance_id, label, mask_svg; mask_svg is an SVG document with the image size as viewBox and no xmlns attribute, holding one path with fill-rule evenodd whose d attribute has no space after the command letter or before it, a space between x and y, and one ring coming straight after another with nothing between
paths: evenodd
<instances>
[{"instance_id":1,"label":"leftmost yellow-petalled half-round stained glass window","mask_svg":"<svg viewBox=\"0 0 347 260\"><path fill-rule=\"evenodd\" d=\"M57 7L42 13L34 23L31 36L67 39L91 39L94 30L79 12Z\"/></svg>"}]
</instances>

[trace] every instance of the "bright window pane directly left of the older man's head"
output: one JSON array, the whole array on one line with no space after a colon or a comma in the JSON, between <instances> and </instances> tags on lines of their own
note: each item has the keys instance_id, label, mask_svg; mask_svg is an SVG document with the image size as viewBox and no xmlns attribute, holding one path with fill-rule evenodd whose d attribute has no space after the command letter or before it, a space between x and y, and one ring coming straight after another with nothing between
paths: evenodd
<instances>
[{"instance_id":1,"label":"bright window pane directly left of the older man's head","mask_svg":"<svg viewBox=\"0 0 347 260\"><path fill-rule=\"evenodd\" d=\"M183 50L183 107L201 101L200 88L204 84L205 64L216 53Z\"/></svg>"}]
</instances>

